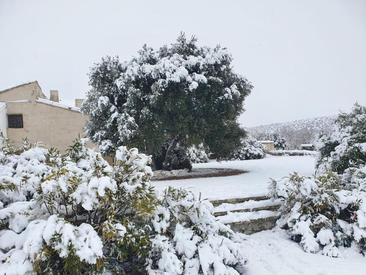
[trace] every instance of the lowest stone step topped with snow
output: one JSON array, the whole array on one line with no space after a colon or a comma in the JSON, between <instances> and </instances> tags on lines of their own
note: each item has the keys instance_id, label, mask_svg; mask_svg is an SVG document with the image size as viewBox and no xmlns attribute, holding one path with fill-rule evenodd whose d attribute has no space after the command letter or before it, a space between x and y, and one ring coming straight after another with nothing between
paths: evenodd
<instances>
[{"instance_id":1,"label":"lowest stone step topped with snow","mask_svg":"<svg viewBox=\"0 0 366 275\"><path fill-rule=\"evenodd\" d=\"M249 212L229 212L217 219L224 224L230 225L234 232L253 234L262 230L272 229L279 217L277 211L258 210Z\"/></svg>"}]
</instances>

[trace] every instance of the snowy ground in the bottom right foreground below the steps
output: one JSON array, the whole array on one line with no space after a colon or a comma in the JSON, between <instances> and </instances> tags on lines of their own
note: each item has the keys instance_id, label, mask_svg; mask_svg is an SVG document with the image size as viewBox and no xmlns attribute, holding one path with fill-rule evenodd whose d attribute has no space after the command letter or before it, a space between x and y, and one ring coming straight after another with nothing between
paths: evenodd
<instances>
[{"instance_id":1,"label":"snowy ground in the bottom right foreground below the steps","mask_svg":"<svg viewBox=\"0 0 366 275\"><path fill-rule=\"evenodd\" d=\"M351 248L341 249L344 258L306 253L284 231L270 230L247 235L244 243L248 260L243 275L366 274L366 258Z\"/></svg>"}]
</instances>

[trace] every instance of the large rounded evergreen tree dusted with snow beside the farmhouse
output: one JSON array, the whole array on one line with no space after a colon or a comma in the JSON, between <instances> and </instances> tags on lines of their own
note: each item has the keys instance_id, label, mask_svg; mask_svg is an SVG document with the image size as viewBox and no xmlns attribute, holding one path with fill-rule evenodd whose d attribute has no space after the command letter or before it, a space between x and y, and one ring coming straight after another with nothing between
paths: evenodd
<instances>
[{"instance_id":1,"label":"large rounded evergreen tree dusted with snow beside the farmhouse","mask_svg":"<svg viewBox=\"0 0 366 275\"><path fill-rule=\"evenodd\" d=\"M144 45L129 62L107 57L91 68L82 111L87 136L103 153L128 145L154 157L163 147L164 168L178 143L205 142L219 157L240 146L237 118L252 85L233 71L226 48L196 42L181 33L171 47Z\"/></svg>"}]
</instances>

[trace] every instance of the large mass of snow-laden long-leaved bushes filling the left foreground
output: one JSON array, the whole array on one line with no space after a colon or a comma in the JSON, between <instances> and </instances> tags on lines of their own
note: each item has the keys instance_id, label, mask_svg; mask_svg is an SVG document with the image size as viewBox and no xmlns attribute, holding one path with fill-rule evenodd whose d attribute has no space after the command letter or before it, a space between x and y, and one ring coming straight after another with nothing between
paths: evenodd
<instances>
[{"instance_id":1,"label":"large mass of snow-laden long-leaved bushes filling the left foreground","mask_svg":"<svg viewBox=\"0 0 366 275\"><path fill-rule=\"evenodd\" d=\"M209 201L157 195L149 156L120 146L112 167L86 141L61 155L3 138L0 274L239 274L241 244Z\"/></svg>"}]
</instances>

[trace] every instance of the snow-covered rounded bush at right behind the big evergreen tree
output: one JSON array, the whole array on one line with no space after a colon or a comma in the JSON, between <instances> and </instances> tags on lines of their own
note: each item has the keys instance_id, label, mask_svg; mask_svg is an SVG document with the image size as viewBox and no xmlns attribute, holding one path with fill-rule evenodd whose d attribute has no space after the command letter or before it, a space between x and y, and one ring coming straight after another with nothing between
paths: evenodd
<instances>
[{"instance_id":1,"label":"snow-covered rounded bush at right behind the big evergreen tree","mask_svg":"<svg viewBox=\"0 0 366 275\"><path fill-rule=\"evenodd\" d=\"M248 135L242 140L242 147L236 150L230 160L246 160L264 158L266 146L259 143L253 136Z\"/></svg>"}]
</instances>

